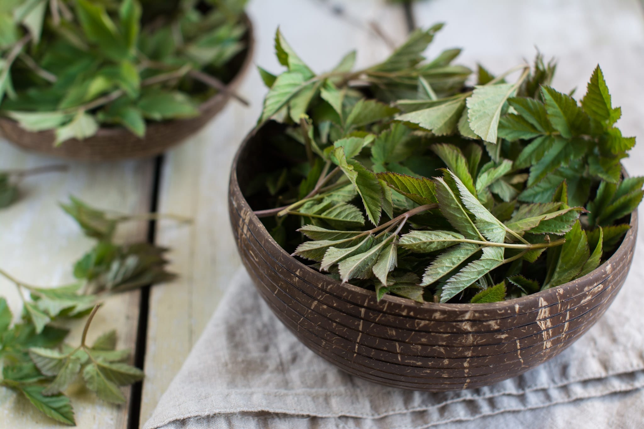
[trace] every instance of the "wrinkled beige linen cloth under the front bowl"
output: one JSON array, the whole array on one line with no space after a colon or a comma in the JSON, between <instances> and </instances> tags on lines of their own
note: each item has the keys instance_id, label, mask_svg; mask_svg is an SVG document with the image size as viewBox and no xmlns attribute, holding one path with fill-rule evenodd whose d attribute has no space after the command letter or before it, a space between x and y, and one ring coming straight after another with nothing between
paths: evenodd
<instances>
[{"instance_id":1,"label":"wrinkled beige linen cloth under the front bowl","mask_svg":"<svg viewBox=\"0 0 644 429\"><path fill-rule=\"evenodd\" d=\"M387 388L341 372L287 331L242 269L144 428L637 427L642 239L620 294L578 342L522 376L462 392Z\"/></svg>"}]
</instances>

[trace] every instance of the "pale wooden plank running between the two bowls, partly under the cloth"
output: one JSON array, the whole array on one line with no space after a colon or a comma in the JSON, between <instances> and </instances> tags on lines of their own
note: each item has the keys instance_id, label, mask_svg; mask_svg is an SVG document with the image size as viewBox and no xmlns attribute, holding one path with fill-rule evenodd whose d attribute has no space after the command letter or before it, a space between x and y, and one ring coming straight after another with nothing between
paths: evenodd
<instances>
[{"instance_id":1,"label":"pale wooden plank running between the two bowls, partly under the cloth","mask_svg":"<svg viewBox=\"0 0 644 429\"><path fill-rule=\"evenodd\" d=\"M384 1L255 1L249 15L256 34L256 64L279 72L274 32L279 25L294 50L314 70L330 69L357 48L357 67L384 59L390 50L370 30L376 21L395 42L404 40L406 23L400 6ZM227 286L240 260L227 214L228 176L234 152L261 111L266 89L258 73L249 72L240 93L250 108L231 103L202 132L171 151L162 173L159 208L193 217L192 228L162 226L157 242L172 249L176 282L151 290L140 422L154 410Z\"/></svg>"}]
</instances>

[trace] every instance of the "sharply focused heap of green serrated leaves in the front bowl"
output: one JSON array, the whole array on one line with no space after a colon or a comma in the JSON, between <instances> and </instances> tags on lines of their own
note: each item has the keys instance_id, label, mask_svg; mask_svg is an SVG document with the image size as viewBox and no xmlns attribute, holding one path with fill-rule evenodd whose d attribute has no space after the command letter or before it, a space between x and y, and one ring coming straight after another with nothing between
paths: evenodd
<instances>
[{"instance_id":1,"label":"sharply focused heap of green serrated leaves in the front bowl","mask_svg":"<svg viewBox=\"0 0 644 429\"><path fill-rule=\"evenodd\" d=\"M541 55L497 77L452 64L456 49L426 60L440 28L320 75L278 32L287 71L260 69L258 124L282 124L265 142L275 170L245 189L254 209L274 208L255 213L294 256L378 299L496 302L591 272L644 184L623 177L635 139L615 126L601 69L578 102Z\"/></svg>"}]
</instances>

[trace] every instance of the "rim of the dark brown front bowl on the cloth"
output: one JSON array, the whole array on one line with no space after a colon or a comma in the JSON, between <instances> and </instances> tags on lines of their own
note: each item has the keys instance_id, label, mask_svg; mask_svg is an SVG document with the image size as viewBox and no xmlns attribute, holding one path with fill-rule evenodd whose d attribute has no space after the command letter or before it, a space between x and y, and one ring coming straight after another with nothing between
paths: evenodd
<instances>
[{"instance_id":1,"label":"rim of the dark brown front bowl on the cloth","mask_svg":"<svg viewBox=\"0 0 644 429\"><path fill-rule=\"evenodd\" d=\"M262 127L265 125L266 124L262 125ZM273 244L276 248L278 248L279 252L281 252L283 256L294 260L298 265L298 268L303 269L305 272L310 272L312 275L316 277L321 276L323 277L323 280L325 280L325 282L327 283L330 282L335 286L347 288L352 293L361 295L361 297L374 298L375 295L373 291L370 291L365 288L361 288L359 286L355 286L353 284L350 284L349 282L342 283L342 282L339 282L338 280L327 277L323 273L320 273L319 271L313 268L310 268L306 264L303 264L300 260L291 256L286 250L284 250L278 244L278 242L276 242L273 239L269 231L266 229L263 223L261 223L260 218L254 214L254 211L252 210L251 206L246 200L246 197L243 196L242 190L240 189L238 179L237 179L237 169L240 163L239 161L240 161L240 156L242 152L247 147L247 145L249 145L252 139L256 138L256 134L258 133L258 131L260 131L260 129L261 127L252 129L251 132L249 132L245 136L245 138L243 139L242 143L240 144L240 146L238 147L235 153L235 156L232 160L232 166L231 166L229 199L231 201L233 199L240 201L242 203L242 207L241 207L242 210L247 210L248 216L249 216L247 219L245 219L245 222L249 223L250 221L253 221L256 224L259 224L261 227L261 232L269 239L271 244ZM623 167L622 167L622 172L625 177L629 177L629 174ZM235 194L237 194L239 197L237 197ZM590 273L583 275L582 277L575 278L574 280L571 280L564 284L560 284L559 286L554 286L553 288L538 291L536 293L531 293L524 297L512 298L510 300L504 300L499 302L487 302L487 303L447 303L447 302L422 302L421 303L421 302L414 301L410 298L403 298L403 297L397 297L395 295L386 294L383 296L383 298L381 298L379 302L377 302L377 304L381 304L384 306L386 305L387 302L392 302L393 304L413 307L414 309L422 309L422 310L429 310L429 311L433 310L437 312L459 311L464 313L468 313L469 311L472 311L472 312L477 311L478 313L486 312L486 311L498 311L500 309L506 309L507 307L518 308L518 307L523 307L524 305L530 306L535 302L538 302L539 306L549 305L553 302L553 298L554 298L554 302L557 302L558 300L560 300L561 295L563 295L564 297L567 297L568 295L570 295L567 292L570 289L573 289L575 286L577 286L580 282L588 282L588 280L590 280L593 277L599 277L601 278L601 281L598 282L597 284L600 284L606 277L611 275L612 269L607 269L607 267L612 266L611 264L613 262L616 262L616 260L622 258L627 252L630 251L630 248L635 247L635 244L637 242L636 240L637 232L638 232L638 209L637 208L630 213L629 225L630 225L630 228L624 235L620 246L617 248L616 251L614 251L614 253L611 255L609 259L603 262L603 264L593 269ZM591 282L591 283L594 283L594 282Z\"/></svg>"}]
</instances>

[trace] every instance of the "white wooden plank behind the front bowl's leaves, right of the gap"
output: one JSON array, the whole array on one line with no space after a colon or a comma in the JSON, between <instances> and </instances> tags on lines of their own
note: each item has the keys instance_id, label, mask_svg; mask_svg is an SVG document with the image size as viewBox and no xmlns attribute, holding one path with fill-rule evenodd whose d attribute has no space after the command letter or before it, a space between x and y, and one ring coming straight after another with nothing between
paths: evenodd
<instances>
[{"instance_id":1,"label":"white wooden plank behind the front bowl's leaves, right of the gap","mask_svg":"<svg viewBox=\"0 0 644 429\"><path fill-rule=\"evenodd\" d=\"M444 22L430 56L444 48L464 48L460 61L481 62L499 74L524 59L532 61L538 47L546 58L556 57L553 86L577 88L585 94L592 70L600 64L612 95L621 105L618 126L625 135L644 138L644 15L638 0L451 0L413 5L418 26ZM644 143L624 164L631 174L644 173Z\"/></svg>"}]
</instances>

